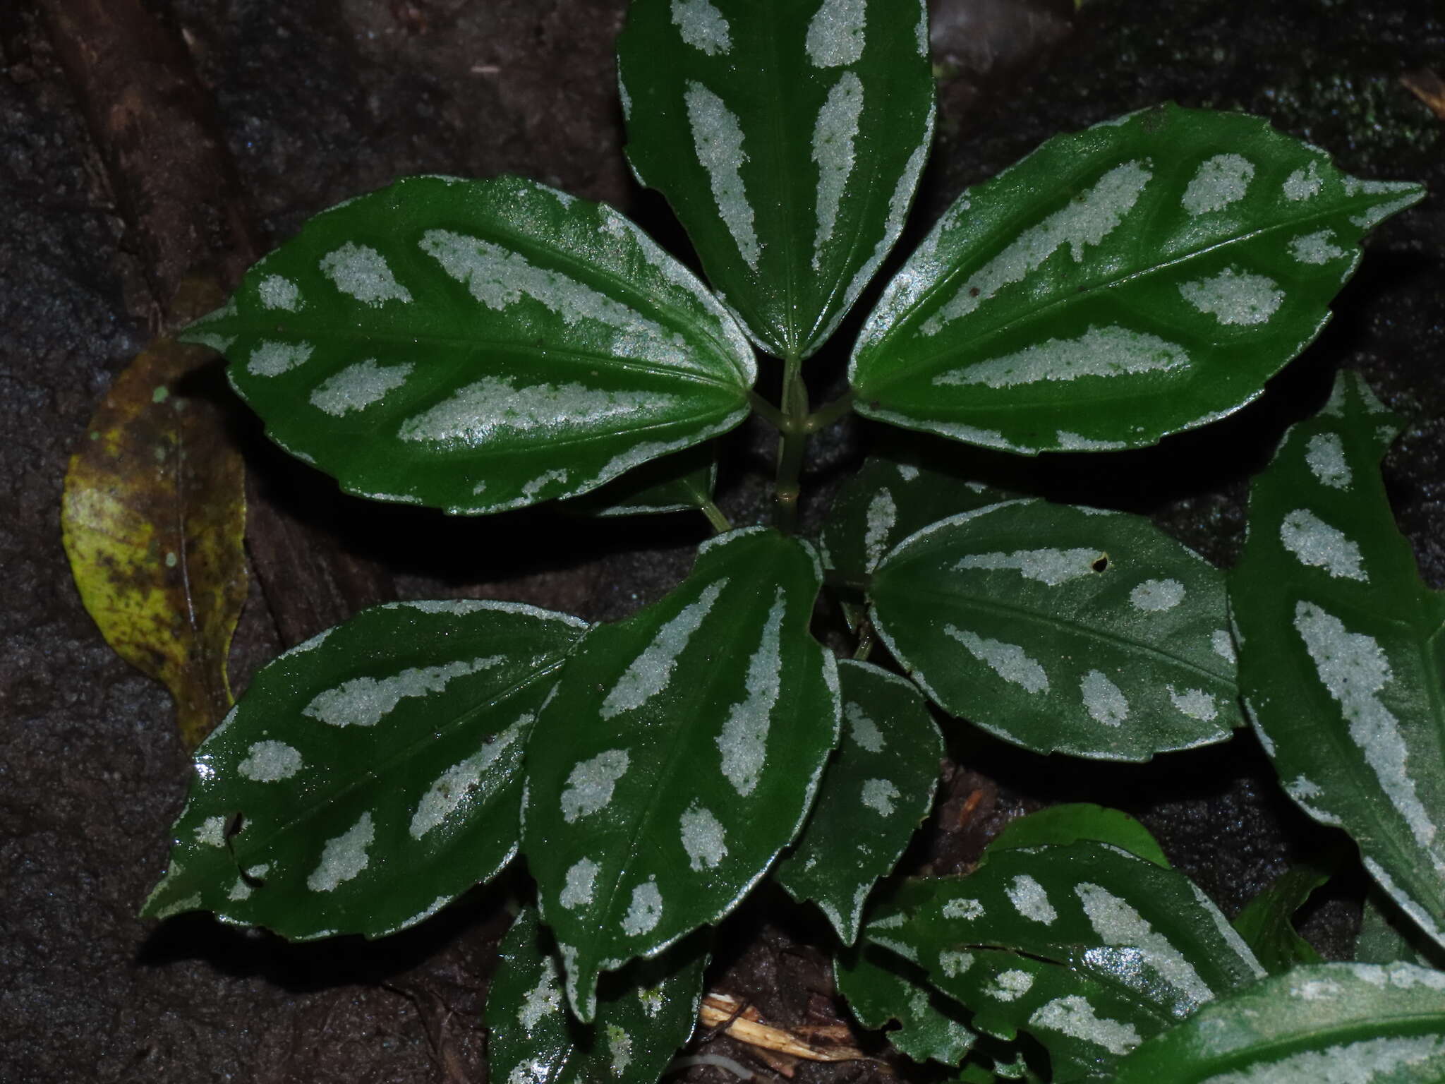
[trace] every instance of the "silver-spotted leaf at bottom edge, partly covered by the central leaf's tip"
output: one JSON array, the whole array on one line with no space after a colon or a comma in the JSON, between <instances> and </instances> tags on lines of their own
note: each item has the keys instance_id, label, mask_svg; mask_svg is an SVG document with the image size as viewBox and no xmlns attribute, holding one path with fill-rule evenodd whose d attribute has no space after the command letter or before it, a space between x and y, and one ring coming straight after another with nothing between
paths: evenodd
<instances>
[{"instance_id":1,"label":"silver-spotted leaf at bottom edge, partly covered by the central leaf's tip","mask_svg":"<svg viewBox=\"0 0 1445 1084\"><path fill-rule=\"evenodd\" d=\"M527 908L501 941L487 991L487 1070L514 1084L653 1084L692 1035L702 1000L705 945L685 941L656 960L607 976L597 1020L579 1023L562 1000L552 938Z\"/></svg>"}]
</instances>

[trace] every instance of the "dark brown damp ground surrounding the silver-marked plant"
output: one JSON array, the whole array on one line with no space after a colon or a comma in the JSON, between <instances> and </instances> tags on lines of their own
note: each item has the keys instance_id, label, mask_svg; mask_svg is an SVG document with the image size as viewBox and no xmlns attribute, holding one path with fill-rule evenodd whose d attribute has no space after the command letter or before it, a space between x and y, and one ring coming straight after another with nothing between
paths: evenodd
<instances>
[{"instance_id":1,"label":"dark brown damp ground surrounding the silver-marked plant","mask_svg":"<svg viewBox=\"0 0 1445 1084\"><path fill-rule=\"evenodd\" d=\"M136 918L165 866L186 756L165 692L116 658L82 610L58 507L91 410L172 309L166 249L150 244L156 227L137 218L131 181L117 175L143 172L146 149L121 160L104 137L95 142L95 117L116 103L88 101L84 79L62 66L71 32L58 7L0 6L0 1080L481 1080L478 1015L507 886L379 944L290 947L204 916ZM263 249L329 204L418 172L532 175L611 201L683 244L620 155L610 51L624 0L149 0L139 9L184 43L179 55L199 79L192 97L204 100L179 106L218 133ZM1260 113L1354 173L1445 191L1445 121L1400 85L1405 72L1445 65L1438 0L1091 0L1078 14L1071 0L939 0L935 14L941 140L915 240L962 186L1042 139L1162 98ZM134 58L131 78L144 79L150 62ZM1409 422L1387 476L1426 578L1445 585L1441 207L1428 201L1377 231L1340 317L1257 403L1157 451L1055 457L1045 489L1149 512L1227 562L1248 474L1345 366ZM831 364L838 380L841 354ZM819 441L814 517L874 436L841 426ZM749 471L766 439L744 431L733 444L746 467L724 478L722 503L749 522L762 493ZM1007 467L955 448L932 454L981 474ZM608 523L579 564L582 532L542 513L458 522L312 500L328 483L260 449L253 464L273 504L344 552L374 558L403 597L506 597L617 619L685 575L705 535L689 520ZM276 600L253 588L237 684L305 623L288 624ZM915 854L936 870L967 866L1023 809L1101 801L1142 815L1233 913L1328 841L1280 798L1248 734L1095 770L952 733L939 811ZM1340 885L1309 919L1328 955L1350 950L1358 892ZM818 932L814 916L780 918L776 903L750 905L724 929L715 981L780 1023L834 1019L827 960L799 945ZM809 1081L873 1072L798 1068Z\"/></svg>"}]
</instances>

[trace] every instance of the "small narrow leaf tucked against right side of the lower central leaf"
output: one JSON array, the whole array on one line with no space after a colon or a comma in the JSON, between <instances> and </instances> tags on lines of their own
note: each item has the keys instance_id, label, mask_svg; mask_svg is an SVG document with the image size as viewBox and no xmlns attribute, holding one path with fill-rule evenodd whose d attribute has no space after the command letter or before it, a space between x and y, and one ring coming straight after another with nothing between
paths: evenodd
<instances>
[{"instance_id":1,"label":"small narrow leaf tucked against right side of the lower central leaf","mask_svg":"<svg viewBox=\"0 0 1445 1084\"><path fill-rule=\"evenodd\" d=\"M815 900L845 945L858 937L863 903L928 817L944 736L910 682L867 662L838 663L842 741L812 817L775 876Z\"/></svg>"}]
</instances>

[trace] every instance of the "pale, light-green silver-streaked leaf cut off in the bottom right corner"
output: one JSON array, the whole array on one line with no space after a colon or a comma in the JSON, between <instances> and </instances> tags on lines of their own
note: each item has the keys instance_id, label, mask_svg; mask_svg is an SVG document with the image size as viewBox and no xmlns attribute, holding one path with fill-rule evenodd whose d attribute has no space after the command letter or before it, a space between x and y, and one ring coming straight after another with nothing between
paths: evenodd
<instances>
[{"instance_id":1,"label":"pale, light-green silver-streaked leaf cut off in the bottom right corner","mask_svg":"<svg viewBox=\"0 0 1445 1084\"><path fill-rule=\"evenodd\" d=\"M1299 967L1157 1035L1114 1084L1426 1084L1445 1080L1445 974L1412 964Z\"/></svg>"}]
</instances>

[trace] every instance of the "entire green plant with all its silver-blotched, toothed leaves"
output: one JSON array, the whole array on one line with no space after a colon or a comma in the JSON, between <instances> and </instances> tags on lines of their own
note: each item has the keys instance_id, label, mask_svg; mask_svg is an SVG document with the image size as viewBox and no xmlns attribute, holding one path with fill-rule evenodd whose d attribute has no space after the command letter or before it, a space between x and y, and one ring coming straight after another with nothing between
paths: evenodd
<instances>
[{"instance_id":1,"label":"entire green plant with all its silver-blotched, toothed leaves","mask_svg":"<svg viewBox=\"0 0 1445 1084\"><path fill-rule=\"evenodd\" d=\"M1241 934L1107 811L1020 821L965 877L884 880L932 802L933 708L1140 762L1227 739L1247 704L1289 793L1445 941L1445 611L1389 528L1397 426L1363 382L1259 480L1233 626L1225 575L1147 520L925 463L870 461L816 545L796 533L806 441L848 410L1025 455L1231 413L1420 188L1240 114L1059 136L958 198L814 410L808 361L897 241L931 143L923 0L634 0L618 64L633 169L711 286L605 205L422 176L315 217L186 337L351 493L692 509L715 536L620 623L397 603L286 652L199 747L146 913L381 937L520 857L536 906L488 1007L509 1084L656 1080L692 1032L707 928L766 876L827 916L858 1019L962 1080L1445 1071L1445 976L1403 950L1311 963L1279 934L1298 900ZM731 529L709 442L753 412L779 431L776 515ZM822 590L857 658L814 637ZM902 674L866 659L874 636Z\"/></svg>"}]
</instances>

